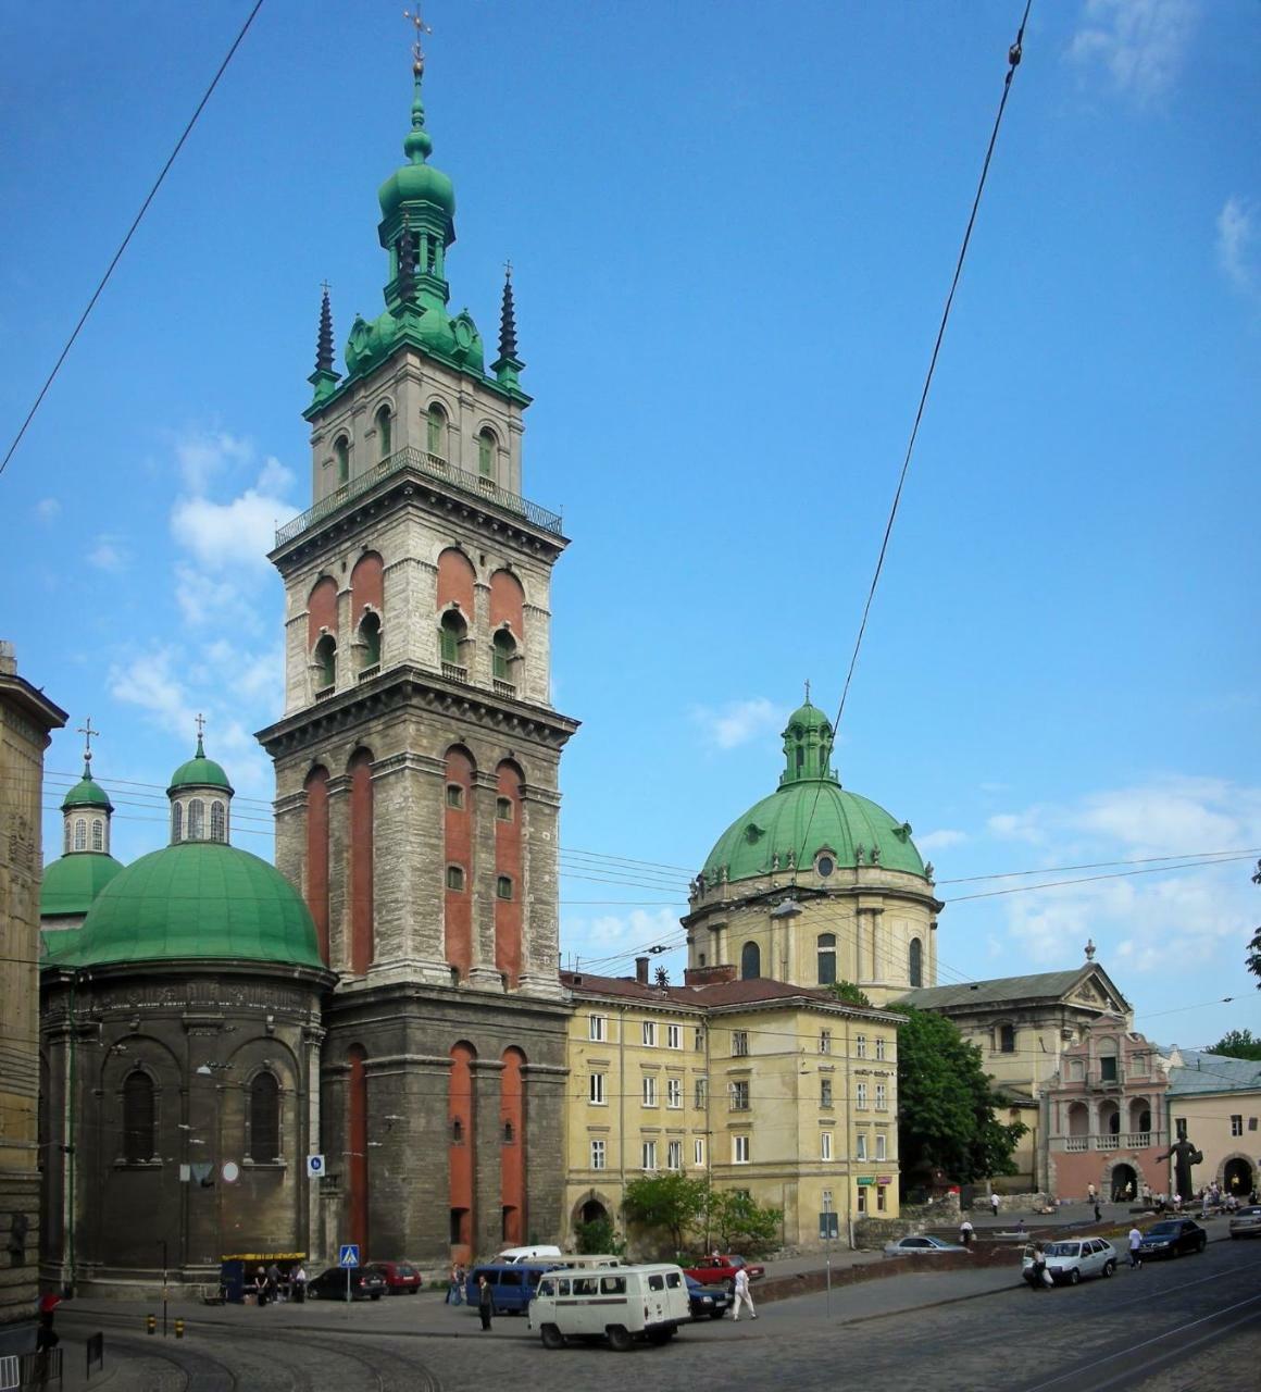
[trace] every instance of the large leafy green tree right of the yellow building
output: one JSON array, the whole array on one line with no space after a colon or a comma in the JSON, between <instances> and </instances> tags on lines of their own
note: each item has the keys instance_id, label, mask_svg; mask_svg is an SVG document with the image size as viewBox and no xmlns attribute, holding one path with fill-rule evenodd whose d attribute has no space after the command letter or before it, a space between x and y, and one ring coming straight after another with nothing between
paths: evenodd
<instances>
[{"instance_id":1,"label":"large leafy green tree right of the yellow building","mask_svg":"<svg viewBox=\"0 0 1261 1392\"><path fill-rule=\"evenodd\" d=\"M1002 1098L981 1068L981 1051L942 1015L894 1005L898 1026L898 1150L903 1176L944 1169L959 1183L1013 1175L1012 1151L1029 1130L1001 1122Z\"/></svg>"}]
</instances>

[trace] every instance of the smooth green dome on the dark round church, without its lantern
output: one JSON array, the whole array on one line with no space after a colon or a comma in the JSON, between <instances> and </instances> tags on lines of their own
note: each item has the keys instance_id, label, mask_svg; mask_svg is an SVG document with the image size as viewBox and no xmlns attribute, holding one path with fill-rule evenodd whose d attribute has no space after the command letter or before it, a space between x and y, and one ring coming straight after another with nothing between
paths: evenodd
<instances>
[{"instance_id":1,"label":"smooth green dome on the dark round church, without its lantern","mask_svg":"<svg viewBox=\"0 0 1261 1392\"><path fill-rule=\"evenodd\" d=\"M127 866L97 895L72 949L57 956L78 966L171 958L324 965L290 881L214 841L167 846Z\"/></svg>"}]
</instances>

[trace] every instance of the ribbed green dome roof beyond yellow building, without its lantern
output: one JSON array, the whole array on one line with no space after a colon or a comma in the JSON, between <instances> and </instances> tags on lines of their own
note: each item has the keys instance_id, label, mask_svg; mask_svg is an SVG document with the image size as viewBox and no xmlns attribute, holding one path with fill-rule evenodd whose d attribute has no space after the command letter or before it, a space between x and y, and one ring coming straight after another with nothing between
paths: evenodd
<instances>
[{"instance_id":1,"label":"ribbed green dome roof beyond yellow building, without its lantern","mask_svg":"<svg viewBox=\"0 0 1261 1392\"><path fill-rule=\"evenodd\" d=\"M708 881L724 866L728 880L766 876L777 855L779 870L786 870L789 852L802 869L813 866L820 851L830 851L838 866L853 866L859 846L864 864L871 864L871 849L878 846L881 869L924 874L905 821L830 778L802 780L785 784L733 821L706 859L703 873Z\"/></svg>"}]
</instances>

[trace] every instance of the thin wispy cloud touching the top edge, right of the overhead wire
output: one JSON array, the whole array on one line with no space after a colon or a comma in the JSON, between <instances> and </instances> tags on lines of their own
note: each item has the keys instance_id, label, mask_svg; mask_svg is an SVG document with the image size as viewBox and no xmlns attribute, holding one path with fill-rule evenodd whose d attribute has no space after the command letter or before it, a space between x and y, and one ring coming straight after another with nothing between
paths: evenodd
<instances>
[{"instance_id":1,"label":"thin wispy cloud touching the top edge, right of the overhead wire","mask_svg":"<svg viewBox=\"0 0 1261 1392\"><path fill-rule=\"evenodd\" d=\"M1102 68L1119 92L1147 102L1177 77L1194 24L1189 0L1086 0L1069 58Z\"/></svg>"}]
</instances>

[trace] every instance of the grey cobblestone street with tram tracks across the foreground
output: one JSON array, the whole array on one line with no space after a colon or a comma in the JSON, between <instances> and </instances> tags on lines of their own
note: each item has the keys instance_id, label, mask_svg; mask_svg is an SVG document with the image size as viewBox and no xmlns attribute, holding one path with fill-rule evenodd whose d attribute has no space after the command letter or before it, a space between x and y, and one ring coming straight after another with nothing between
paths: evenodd
<instances>
[{"instance_id":1,"label":"grey cobblestone street with tram tracks across the foreground","mask_svg":"<svg viewBox=\"0 0 1261 1392\"><path fill-rule=\"evenodd\" d=\"M756 1289L756 1288L754 1288ZM916 1392L1251 1392L1261 1366L1261 1242L1214 1242L1203 1257L1048 1292L1010 1270L907 1274L764 1304L759 1320L690 1325L665 1347L544 1350L521 1317L483 1334L437 1295L351 1308L188 1310L188 1336L142 1335L143 1311L75 1302L67 1343L106 1331L117 1371L100 1392L455 1392L489 1384L562 1392L686 1389L788 1381L793 1392L853 1381ZM82 1357L82 1345L78 1345ZM118 1366L118 1354L135 1364ZM74 1356L74 1354L71 1354ZM174 1360L166 1363L164 1360Z\"/></svg>"}]
</instances>

